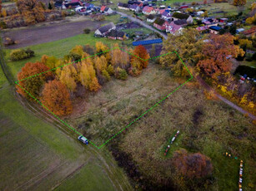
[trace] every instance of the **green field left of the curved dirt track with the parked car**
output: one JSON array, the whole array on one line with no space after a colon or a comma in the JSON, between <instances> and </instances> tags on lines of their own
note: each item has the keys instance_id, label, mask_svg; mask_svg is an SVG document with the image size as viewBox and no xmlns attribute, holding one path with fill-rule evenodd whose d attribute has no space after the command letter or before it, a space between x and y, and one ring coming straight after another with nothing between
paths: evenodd
<instances>
[{"instance_id":1,"label":"green field left of the curved dirt track with the parked car","mask_svg":"<svg viewBox=\"0 0 256 191\"><path fill-rule=\"evenodd\" d=\"M132 189L108 151L94 151L90 145L84 146L58 130L53 123L39 119L16 100L13 88L4 77L3 84L0 88L1 190L63 188L62 184L68 185L69 179L77 176L83 180L73 185L77 188L87 186L98 190L108 185L109 190ZM97 176L88 176L92 172L98 172Z\"/></svg>"}]
</instances>

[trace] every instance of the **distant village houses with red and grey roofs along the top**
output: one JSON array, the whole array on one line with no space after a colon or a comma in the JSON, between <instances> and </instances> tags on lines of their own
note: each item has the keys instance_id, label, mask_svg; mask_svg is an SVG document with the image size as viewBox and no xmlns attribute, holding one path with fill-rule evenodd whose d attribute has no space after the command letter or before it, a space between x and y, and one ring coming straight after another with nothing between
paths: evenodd
<instances>
[{"instance_id":1,"label":"distant village houses with red and grey roofs along the top","mask_svg":"<svg viewBox=\"0 0 256 191\"><path fill-rule=\"evenodd\" d=\"M196 27L198 32L210 32L214 34L219 34L224 27L230 27L234 22L229 22L226 17L208 17L207 11L199 4L193 6L181 5L179 7L166 7L165 5L157 6L156 1L129 0L127 3L118 2L118 9L113 10L106 5L98 7L90 2L68 0L65 2L56 2L55 6L63 9L73 7L75 12L78 12L81 15L95 14L95 12L97 14L111 15L115 14L118 10L121 12L122 10L133 12L134 17L135 15L137 17L137 15L143 14L146 16L144 22L152 25L160 32L171 33L173 35L182 32L184 27L193 27L194 21L199 23L199 26ZM139 17L137 18L142 20ZM245 32L243 28L236 29L236 33L244 32L244 34L247 35L248 33L253 33L255 31L255 28L247 32ZM107 26L98 28L95 32L95 36L123 40L125 33L118 32L113 23L109 23Z\"/></svg>"}]
</instances>

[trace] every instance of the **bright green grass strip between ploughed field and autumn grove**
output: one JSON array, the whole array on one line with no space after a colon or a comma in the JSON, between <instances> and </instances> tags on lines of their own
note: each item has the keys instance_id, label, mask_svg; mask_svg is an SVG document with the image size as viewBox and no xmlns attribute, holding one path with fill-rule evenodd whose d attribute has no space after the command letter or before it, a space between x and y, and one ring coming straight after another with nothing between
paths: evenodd
<instances>
[{"instance_id":1,"label":"bright green grass strip between ploughed field and autumn grove","mask_svg":"<svg viewBox=\"0 0 256 191\"><path fill-rule=\"evenodd\" d=\"M80 34L74 37L68 37L62 40L58 40L55 42L47 42L39 45L29 46L33 51L35 51L35 56L29 59L25 59L22 61L10 61L9 60L9 53L11 50L7 51L6 60L8 61L7 65L9 70L12 72L15 79L17 79L17 73L21 70L21 68L25 65L25 63L31 61L40 61L43 55L48 56L56 56L58 58L62 58L64 55L67 55L68 52L77 45L92 45L95 46L95 43L98 41L102 41L104 44L107 44L108 47L111 47L114 43L121 44L122 41L119 40L111 40L108 38L97 38L93 37L93 32L86 35ZM130 45L132 40L125 41ZM1 78L0 78L1 80Z\"/></svg>"}]
</instances>

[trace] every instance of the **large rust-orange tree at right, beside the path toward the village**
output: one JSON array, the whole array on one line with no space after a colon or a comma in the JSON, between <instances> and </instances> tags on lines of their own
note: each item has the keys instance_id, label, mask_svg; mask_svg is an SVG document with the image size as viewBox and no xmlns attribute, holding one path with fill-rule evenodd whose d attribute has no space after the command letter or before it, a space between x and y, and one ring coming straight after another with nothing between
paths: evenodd
<instances>
[{"instance_id":1,"label":"large rust-orange tree at right, beside the path toward the village","mask_svg":"<svg viewBox=\"0 0 256 191\"><path fill-rule=\"evenodd\" d=\"M209 41L203 44L202 60L198 61L200 71L213 78L230 71L232 61L230 56L243 56L243 49L233 44L234 37L230 34L211 35Z\"/></svg>"}]
</instances>

